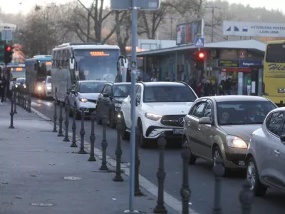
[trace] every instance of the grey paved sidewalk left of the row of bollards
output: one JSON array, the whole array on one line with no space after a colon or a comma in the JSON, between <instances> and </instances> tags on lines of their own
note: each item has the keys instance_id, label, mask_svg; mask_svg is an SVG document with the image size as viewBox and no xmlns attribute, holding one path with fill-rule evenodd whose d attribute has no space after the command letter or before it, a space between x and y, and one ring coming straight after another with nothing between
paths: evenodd
<instances>
[{"instance_id":1,"label":"grey paved sidewalk left of the row of bollards","mask_svg":"<svg viewBox=\"0 0 285 214\"><path fill-rule=\"evenodd\" d=\"M88 162L79 148L52 133L51 123L17 106L15 129L10 126L11 103L0 106L0 214L117 214L128 210L128 177L113 182L114 168L102 172L100 158ZM89 136L86 136L88 139ZM78 177L79 180L66 180ZM135 198L135 210L153 213L154 195ZM165 205L168 213L176 213Z\"/></svg>"}]
</instances>

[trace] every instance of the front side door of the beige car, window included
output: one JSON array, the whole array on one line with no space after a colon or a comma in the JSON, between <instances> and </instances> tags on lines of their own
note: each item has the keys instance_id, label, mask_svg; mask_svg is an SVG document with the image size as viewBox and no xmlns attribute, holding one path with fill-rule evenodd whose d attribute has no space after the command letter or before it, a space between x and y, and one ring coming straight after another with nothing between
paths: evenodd
<instances>
[{"instance_id":1,"label":"front side door of the beige car, window included","mask_svg":"<svg viewBox=\"0 0 285 214\"><path fill-rule=\"evenodd\" d=\"M214 120L213 116L213 103L211 101L207 101L207 104L202 113L202 117L209 117ZM212 141L214 136L214 126L208 124L199 124L198 129L200 128L199 137L201 138L201 142L197 145L197 150L201 156L204 158L212 158Z\"/></svg>"}]
</instances>

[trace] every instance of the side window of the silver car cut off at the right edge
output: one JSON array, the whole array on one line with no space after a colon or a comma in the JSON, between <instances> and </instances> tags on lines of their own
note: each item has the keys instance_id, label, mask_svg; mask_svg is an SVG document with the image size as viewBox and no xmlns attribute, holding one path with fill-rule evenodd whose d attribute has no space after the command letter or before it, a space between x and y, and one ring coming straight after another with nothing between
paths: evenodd
<instances>
[{"instance_id":1,"label":"side window of the silver car cut off at the right edge","mask_svg":"<svg viewBox=\"0 0 285 214\"><path fill-rule=\"evenodd\" d=\"M284 111L278 111L271 114L269 123L266 128L276 136L281 136L281 128L284 125Z\"/></svg>"}]
</instances>

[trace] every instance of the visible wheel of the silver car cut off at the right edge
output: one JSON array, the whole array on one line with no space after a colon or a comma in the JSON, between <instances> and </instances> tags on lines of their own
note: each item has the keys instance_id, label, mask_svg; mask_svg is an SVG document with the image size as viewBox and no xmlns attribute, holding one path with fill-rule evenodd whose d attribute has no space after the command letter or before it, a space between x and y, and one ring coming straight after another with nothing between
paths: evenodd
<instances>
[{"instance_id":1,"label":"visible wheel of the silver car cut off at the right edge","mask_svg":"<svg viewBox=\"0 0 285 214\"><path fill-rule=\"evenodd\" d=\"M247 165L247 180L251 184L250 189L256 196L263 196L266 193L267 187L259 180L259 173L257 172L257 165L254 158L249 158Z\"/></svg>"}]
</instances>

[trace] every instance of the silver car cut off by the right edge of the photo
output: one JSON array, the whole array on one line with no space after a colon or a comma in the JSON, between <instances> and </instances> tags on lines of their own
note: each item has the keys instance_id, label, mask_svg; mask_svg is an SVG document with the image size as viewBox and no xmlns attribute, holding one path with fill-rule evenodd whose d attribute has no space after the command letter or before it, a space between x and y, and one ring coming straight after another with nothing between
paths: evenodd
<instances>
[{"instance_id":1,"label":"silver car cut off by the right edge of the photo","mask_svg":"<svg viewBox=\"0 0 285 214\"><path fill-rule=\"evenodd\" d=\"M285 107L271 111L252 133L246 163L255 195L264 195L268 187L285 192Z\"/></svg>"}]
</instances>

